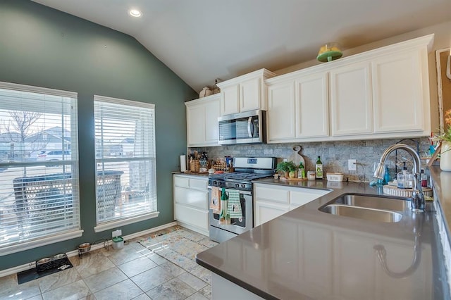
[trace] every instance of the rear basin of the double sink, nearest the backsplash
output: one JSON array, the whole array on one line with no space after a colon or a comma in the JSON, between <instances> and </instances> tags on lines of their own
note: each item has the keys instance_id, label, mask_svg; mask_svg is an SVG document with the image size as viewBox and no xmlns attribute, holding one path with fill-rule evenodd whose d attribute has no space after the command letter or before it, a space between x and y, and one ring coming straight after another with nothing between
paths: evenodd
<instances>
[{"instance_id":1,"label":"rear basin of the double sink, nearest the backsplash","mask_svg":"<svg viewBox=\"0 0 451 300\"><path fill-rule=\"evenodd\" d=\"M340 196L333 201L335 204L345 204L349 206L359 206L364 208L382 209L388 211L409 211L411 201L384 198L370 195L347 194Z\"/></svg>"}]
</instances>

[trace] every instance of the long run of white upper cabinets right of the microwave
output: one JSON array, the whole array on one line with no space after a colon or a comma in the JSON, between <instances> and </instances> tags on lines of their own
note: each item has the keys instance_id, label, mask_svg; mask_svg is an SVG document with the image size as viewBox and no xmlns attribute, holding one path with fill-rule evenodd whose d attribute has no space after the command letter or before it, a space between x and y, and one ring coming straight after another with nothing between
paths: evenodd
<instances>
[{"instance_id":1,"label":"long run of white upper cabinets right of the microwave","mask_svg":"<svg viewBox=\"0 0 451 300\"><path fill-rule=\"evenodd\" d=\"M266 80L268 143L430 135L432 44L427 35Z\"/></svg>"}]
</instances>

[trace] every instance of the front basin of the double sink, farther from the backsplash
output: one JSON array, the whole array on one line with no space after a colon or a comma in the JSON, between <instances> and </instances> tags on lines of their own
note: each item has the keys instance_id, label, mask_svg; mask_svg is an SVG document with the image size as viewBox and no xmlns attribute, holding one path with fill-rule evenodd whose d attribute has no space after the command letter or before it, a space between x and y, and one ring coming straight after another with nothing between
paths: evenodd
<instances>
[{"instance_id":1,"label":"front basin of the double sink, farther from the backsplash","mask_svg":"<svg viewBox=\"0 0 451 300\"><path fill-rule=\"evenodd\" d=\"M381 209L364 208L345 204L328 204L327 206L320 208L320 211L332 215L342 215L345 217L385 223L399 222L402 219L402 214L395 211L384 211Z\"/></svg>"}]
</instances>

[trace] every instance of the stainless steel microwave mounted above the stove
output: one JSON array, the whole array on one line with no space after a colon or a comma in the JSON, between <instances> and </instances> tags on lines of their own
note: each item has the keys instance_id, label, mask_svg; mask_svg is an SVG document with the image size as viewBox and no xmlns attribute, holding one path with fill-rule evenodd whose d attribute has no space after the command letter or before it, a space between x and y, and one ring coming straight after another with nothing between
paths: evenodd
<instances>
[{"instance_id":1,"label":"stainless steel microwave mounted above the stove","mask_svg":"<svg viewBox=\"0 0 451 300\"><path fill-rule=\"evenodd\" d=\"M218 118L219 144L266 143L266 111L246 111Z\"/></svg>"}]
</instances>

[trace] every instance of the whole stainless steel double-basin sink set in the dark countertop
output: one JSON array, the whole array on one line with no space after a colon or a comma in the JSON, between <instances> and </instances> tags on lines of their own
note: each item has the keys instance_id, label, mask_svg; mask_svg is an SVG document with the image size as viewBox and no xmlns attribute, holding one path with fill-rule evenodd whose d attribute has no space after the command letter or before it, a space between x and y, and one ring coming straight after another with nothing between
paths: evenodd
<instances>
[{"instance_id":1,"label":"whole stainless steel double-basin sink set in the dark countertop","mask_svg":"<svg viewBox=\"0 0 451 300\"><path fill-rule=\"evenodd\" d=\"M410 206L411 202L404 199L345 194L319 210L332 215L394 223L402 219L402 213L409 211Z\"/></svg>"}]
</instances>

